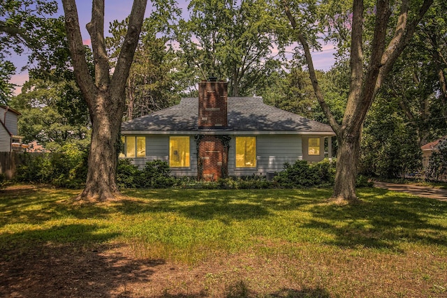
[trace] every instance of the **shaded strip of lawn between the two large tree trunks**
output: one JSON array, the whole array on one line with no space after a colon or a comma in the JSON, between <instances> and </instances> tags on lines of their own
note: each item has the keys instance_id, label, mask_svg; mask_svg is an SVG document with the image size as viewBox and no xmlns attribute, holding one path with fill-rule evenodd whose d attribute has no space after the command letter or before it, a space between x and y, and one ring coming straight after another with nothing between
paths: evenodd
<instances>
[{"instance_id":1,"label":"shaded strip of lawn between the two large tree trunks","mask_svg":"<svg viewBox=\"0 0 447 298\"><path fill-rule=\"evenodd\" d=\"M272 211L291 211L327 198L326 190L219 190L190 191L170 190L168 198L156 200L160 193L129 191L136 198L148 200L123 200L117 207L124 214L154 212L179 212L189 218L207 221L221 219L223 222L263 218Z\"/></svg>"}]
</instances>

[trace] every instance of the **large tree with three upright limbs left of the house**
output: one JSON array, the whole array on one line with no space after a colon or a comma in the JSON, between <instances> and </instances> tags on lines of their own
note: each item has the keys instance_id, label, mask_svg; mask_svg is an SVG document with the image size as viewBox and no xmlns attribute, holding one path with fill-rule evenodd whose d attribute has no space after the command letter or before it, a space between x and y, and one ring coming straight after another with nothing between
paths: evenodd
<instances>
[{"instance_id":1,"label":"large tree with three upright limbs left of the house","mask_svg":"<svg viewBox=\"0 0 447 298\"><path fill-rule=\"evenodd\" d=\"M91 22L87 31L91 37L95 77L91 78L82 44L78 10L75 0L62 0L68 45L76 82L89 107L91 143L89 170L80 199L109 200L119 193L116 184L119 152L119 130L122 123L126 80L138 45L147 0L134 0L129 27L122 44L115 70L110 75L109 58L104 38L104 0L93 0Z\"/></svg>"}]
</instances>

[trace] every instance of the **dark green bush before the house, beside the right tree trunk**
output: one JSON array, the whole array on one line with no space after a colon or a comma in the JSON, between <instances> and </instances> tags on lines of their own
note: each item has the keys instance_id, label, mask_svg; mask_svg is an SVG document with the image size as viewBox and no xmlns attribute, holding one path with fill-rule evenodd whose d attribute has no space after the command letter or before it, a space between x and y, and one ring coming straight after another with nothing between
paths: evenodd
<instances>
[{"instance_id":1,"label":"dark green bush before the house, beside the right tree trunk","mask_svg":"<svg viewBox=\"0 0 447 298\"><path fill-rule=\"evenodd\" d=\"M335 178L335 163L321 161L308 163L295 161L293 165L284 163L284 171L279 172L274 181L281 187L300 188L311 186L332 186Z\"/></svg>"}]
</instances>

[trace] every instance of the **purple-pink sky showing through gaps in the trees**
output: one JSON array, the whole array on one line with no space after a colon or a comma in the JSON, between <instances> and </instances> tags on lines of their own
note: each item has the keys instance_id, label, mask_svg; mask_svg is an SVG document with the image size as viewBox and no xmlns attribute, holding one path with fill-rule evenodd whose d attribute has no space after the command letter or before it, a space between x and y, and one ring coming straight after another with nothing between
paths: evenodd
<instances>
[{"instance_id":1,"label":"purple-pink sky showing through gaps in the trees","mask_svg":"<svg viewBox=\"0 0 447 298\"><path fill-rule=\"evenodd\" d=\"M57 0L59 5L59 15L64 14L62 8L61 0ZM123 0L106 0L105 1L105 32L108 32L108 24L113 20L124 20L131 13L131 3L132 1ZM179 7L186 10L188 2L186 0L177 0ZM91 0L76 0L78 6L79 22L81 27L82 39L85 44L89 44L89 34L85 29L85 25L91 20ZM152 11L151 1L147 3L146 15L149 16ZM333 57L335 50L331 45L323 45L322 52L314 52L312 57L314 58L314 67L319 70L329 70L334 64L335 60ZM17 74L12 77L10 82L19 85L17 87L15 94L19 94L21 86L24 82L29 80L27 71L20 72L20 68L24 66L27 62L26 53L22 56L14 56L13 62L17 67Z\"/></svg>"}]
</instances>

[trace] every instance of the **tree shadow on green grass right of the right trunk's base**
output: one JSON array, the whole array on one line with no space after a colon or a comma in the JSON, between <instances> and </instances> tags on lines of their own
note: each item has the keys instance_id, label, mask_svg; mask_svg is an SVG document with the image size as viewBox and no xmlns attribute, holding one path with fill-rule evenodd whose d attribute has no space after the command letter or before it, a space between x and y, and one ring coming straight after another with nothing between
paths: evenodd
<instances>
[{"instance_id":1,"label":"tree shadow on green grass right of the right trunk's base","mask_svg":"<svg viewBox=\"0 0 447 298\"><path fill-rule=\"evenodd\" d=\"M316 204L305 228L333 234L330 244L399 251L402 243L447 246L447 202L379 189L360 190L360 204Z\"/></svg>"}]
</instances>

